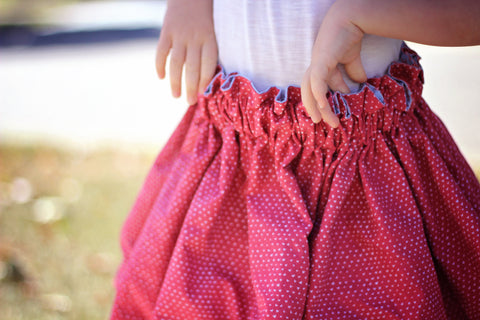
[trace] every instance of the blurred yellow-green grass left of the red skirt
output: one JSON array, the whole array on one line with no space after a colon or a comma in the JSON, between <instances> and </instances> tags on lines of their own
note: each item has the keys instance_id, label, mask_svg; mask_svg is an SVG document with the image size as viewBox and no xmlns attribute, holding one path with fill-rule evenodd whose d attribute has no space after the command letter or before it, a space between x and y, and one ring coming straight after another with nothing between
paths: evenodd
<instances>
[{"instance_id":1,"label":"blurred yellow-green grass left of the red skirt","mask_svg":"<svg viewBox=\"0 0 480 320\"><path fill-rule=\"evenodd\" d=\"M108 318L118 233L153 158L0 146L2 320Z\"/></svg>"}]
</instances>

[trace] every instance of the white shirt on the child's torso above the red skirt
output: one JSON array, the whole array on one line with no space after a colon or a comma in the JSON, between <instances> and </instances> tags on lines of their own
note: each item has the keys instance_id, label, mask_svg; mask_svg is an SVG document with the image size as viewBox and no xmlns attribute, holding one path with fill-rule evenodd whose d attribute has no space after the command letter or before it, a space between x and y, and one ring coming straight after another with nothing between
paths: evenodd
<instances>
[{"instance_id":1,"label":"white shirt on the child's torso above the red skirt","mask_svg":"<svg viewBox=\"0 0 480 320\"><path fill-rule=\"evenodd\" d=\"M214 0L219 61L262 91L300 86L313 42L334 0ZM397 60L401 40L365 35L362 62L368 77L383 75ZM348 81L350 89L358 85Z\"/></svg>"}]
</instances>

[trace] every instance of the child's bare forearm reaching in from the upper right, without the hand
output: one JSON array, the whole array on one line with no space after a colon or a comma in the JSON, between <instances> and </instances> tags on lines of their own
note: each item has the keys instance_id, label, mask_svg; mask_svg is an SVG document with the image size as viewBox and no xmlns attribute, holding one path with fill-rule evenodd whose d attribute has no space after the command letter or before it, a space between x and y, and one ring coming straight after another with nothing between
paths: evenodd
<instances>
[{"instance_id":1,"label":"child's bare forearm reaching in from the upper right, without the hand","mask_svg":"<svg viewBox=\"0 0 480 320\"><path fill-rule=\"evenodd\" d=\"M329 14L378 36L438 46L480 44L479 0L338 0Z\"/></svg>"}]
</instances>

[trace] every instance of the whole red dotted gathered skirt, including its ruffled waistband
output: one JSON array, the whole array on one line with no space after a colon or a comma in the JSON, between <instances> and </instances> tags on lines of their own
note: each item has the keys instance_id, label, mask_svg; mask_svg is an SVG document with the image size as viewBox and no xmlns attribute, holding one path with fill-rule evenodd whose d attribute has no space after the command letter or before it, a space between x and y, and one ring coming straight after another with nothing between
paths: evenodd
<instances>
[{"instance_id":1,"label":"whole red dotted gathered skirt, including its ruffled waistband","mask_svg":"<svg viewBox=\"0 0 480 320\"><path fill-rule=\"evenodd\" d=\"M111 319L480 319L480 185L418 60L331 92L338 128L219 69L123 226Z\"/></svg>"}]
</instances>

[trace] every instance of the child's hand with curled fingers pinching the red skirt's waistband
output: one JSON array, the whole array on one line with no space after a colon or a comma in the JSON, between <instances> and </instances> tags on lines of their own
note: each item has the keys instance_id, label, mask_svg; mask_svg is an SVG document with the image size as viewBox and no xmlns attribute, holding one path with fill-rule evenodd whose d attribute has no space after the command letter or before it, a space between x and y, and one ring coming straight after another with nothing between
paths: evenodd
<instances>
[{"instance_id":1,"label":"child's hand with curled fingers pinching the red skirt's waistband","mask_svg":"<svg viewBox=\"0 0 480 320\"><path fill-rule=\"evenodd\" d=\"M302 100L315 123L324 120L336 128L337 116L329 107L328 88L343 93L350 92L338 70L344 64L348 76L356 82L367 80L360 59L363 31L345 17L334 3L325 16L313 45L312 61L302 80Z\"/></svg>"}]
</instances>

